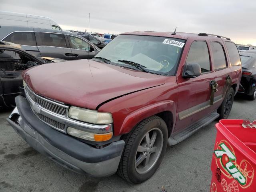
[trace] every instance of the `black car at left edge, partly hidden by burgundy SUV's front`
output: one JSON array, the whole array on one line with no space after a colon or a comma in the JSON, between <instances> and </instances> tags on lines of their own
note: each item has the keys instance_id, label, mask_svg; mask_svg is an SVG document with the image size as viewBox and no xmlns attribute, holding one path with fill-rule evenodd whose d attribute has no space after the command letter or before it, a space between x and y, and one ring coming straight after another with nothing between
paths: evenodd
<instances>
[{"instance_id":1,"label":"black car at left edge, partly hidden by burgundy SUV's front","mask_svg":"<svg viewBox=\"0 0 256 192\"><path fill-rule=\"evenodd\" d=\"M0 108L15 106L14 98L20 94L22 71L41 64L64 61L55 58L38 58L19 48L0 42Z\"/></svg>"}]
</instances>

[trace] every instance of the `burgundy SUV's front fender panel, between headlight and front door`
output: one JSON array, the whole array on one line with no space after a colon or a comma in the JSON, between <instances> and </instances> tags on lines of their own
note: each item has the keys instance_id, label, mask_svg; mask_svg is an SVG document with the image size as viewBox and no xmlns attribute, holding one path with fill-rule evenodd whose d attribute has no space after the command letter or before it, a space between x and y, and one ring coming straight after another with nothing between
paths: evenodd
<instances>
[{"instance_id":1,"label":"burgundy SUV's front fender panel, between headlight and front door","mask_svg":"<svg viewBox=\"0 0 256 192\"><path fill-rule=\"evenodd\" d=\"M111 112L114 135L130 132L136 124L147 117L164 111L173 114L176 122L178 87L176 77L166 77L166 83L116 98L98 108L99 112Z\"/></svg>"}]
</instances>

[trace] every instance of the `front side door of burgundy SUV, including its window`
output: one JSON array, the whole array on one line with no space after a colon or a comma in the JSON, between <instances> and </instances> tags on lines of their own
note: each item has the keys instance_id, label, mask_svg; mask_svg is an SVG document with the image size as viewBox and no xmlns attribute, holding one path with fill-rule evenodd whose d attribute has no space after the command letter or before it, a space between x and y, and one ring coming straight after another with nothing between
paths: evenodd
<instances>
[{"instance_id":1,"label":"front side door of burgundy SUV, including its window","mask_svg":"<svg viewBox=\"0 0 256 192\"><path fill-rule=\"evenodd\" d=\"M178 107L176 130L190 126L211 112L210 81L214 80L214 72L211 67L208 44L205 41L194 41L188 52L186 64L198 63L202 74L196 78L178 78ZM214 98L216 100L216 98Z\"/></svg>"}]
</instances>

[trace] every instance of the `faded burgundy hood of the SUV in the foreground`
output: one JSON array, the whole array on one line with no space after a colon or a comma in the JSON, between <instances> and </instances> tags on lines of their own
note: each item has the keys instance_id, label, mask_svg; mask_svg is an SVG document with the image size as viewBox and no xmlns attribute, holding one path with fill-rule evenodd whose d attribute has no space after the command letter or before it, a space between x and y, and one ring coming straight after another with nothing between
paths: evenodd
<instances>
[{"instance_id":1,"label":"faded burgundy hood of the SUV in the foreground","mask_svg":"<svg viewBox=\"0 0 256 192\"><path fill-rule=\"evenodd\" d=\"M50 63L23 72L35 93L82 108L165 83L166 77L93 60Z\"/></svg>"}]
</instances>

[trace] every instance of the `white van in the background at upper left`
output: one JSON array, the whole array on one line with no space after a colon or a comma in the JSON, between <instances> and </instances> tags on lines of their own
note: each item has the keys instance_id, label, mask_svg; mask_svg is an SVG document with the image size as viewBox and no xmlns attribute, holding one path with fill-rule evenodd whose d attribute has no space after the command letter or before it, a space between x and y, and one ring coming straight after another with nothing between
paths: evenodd
<instances>
[{"instance_id":1,"label":"white van in the background at upper left","mask_svg":"<svg viewBox=\"0 0 256 192\"><path fill-rule=\"evenodd\" d=\"M48 17L0 11L0 26L31 26L36 28L61 30L54 20Z\"/></svg>"}]
</instances>

